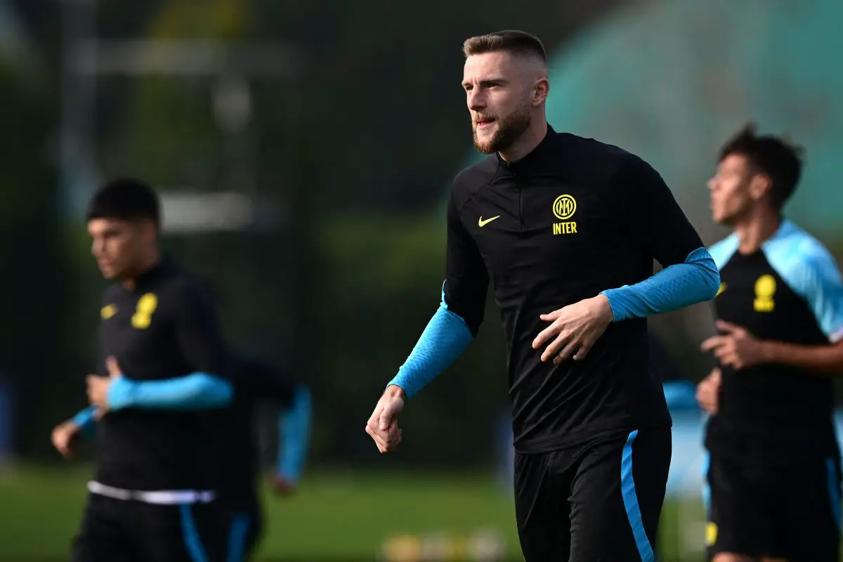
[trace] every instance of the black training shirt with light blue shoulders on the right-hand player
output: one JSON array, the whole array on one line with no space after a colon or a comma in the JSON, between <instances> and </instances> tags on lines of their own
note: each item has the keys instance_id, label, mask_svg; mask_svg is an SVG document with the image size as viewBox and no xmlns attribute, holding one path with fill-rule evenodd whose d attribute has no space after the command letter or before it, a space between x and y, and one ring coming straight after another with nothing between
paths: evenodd
<instances>
[{"instance_id":1,"label":"black training shirt with light blue shoulders on the right-hand player","mask_svg":"<svg viewBox=\"0 0 843 562\"><path fill-rule=\"evenodd\" d=\"M790 221L750 254L733 234L711 248L720 269L717 318L760 340L832 345L843 338L843 283L834 258ZM720 366L706 448L757 463L838 457L832 378L788 365Z\"/></svg>"}]
</instances>

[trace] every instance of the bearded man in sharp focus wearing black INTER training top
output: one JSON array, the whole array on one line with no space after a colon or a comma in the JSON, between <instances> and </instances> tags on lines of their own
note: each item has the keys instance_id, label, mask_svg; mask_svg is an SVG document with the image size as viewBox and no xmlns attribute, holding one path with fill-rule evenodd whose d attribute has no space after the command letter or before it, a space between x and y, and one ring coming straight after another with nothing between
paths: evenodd
<instances>
[{"instance_id":1,"label":"bearded man in sharp focus wearing black INTER training top","mask_svg":"<svg viewBox=\"0 0 843 562\"><path fill-rule=\"evenodd\" d=\"M548 125L539 40L503 31L466 40L464 55L475 147L489 156L454 180L442 304L366 431L381 452L398 445L405 400L469 345L491 280L525 559L652 561L671 422L645 318L714 297L717 268L646 162Z\"/></svg>"}]
</instances>

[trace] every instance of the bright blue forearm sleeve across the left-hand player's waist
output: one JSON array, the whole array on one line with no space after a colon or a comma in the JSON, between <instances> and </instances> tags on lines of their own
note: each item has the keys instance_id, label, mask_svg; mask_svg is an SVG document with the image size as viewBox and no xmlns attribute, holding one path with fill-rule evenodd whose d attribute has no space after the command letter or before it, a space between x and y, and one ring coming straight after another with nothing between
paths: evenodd
<instances>
[{"instance_id":1,"label":"bright blue forearm sleeve across the left-hand player's waist","mask_svg":"<svg viewBox=\"0 0 843 562\"><path fill-rule=\"evenodd\" d=\"M133 381L116 377L108 392L110 409L202 409L228 405L234 387L223 378L205 372L163 381Z\"/></svg>"}]
</instances>

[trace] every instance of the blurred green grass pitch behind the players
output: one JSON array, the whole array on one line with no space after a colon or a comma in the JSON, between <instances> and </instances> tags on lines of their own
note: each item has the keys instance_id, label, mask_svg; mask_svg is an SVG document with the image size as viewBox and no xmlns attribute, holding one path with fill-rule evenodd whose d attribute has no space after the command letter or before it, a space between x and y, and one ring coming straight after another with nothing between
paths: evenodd
<instances>
[{"instance_id":1,"label":"blurred green grass pitch behind the players","mask_svg":"<svg viewBox=\"0 0 843 562\"><path fill-rule=\"evenodd\" d=\"M67 467L0 470L0 560L67 559L88 476L88 469ZM439 534L454 538L444 544L459 549L454 546L459 539L481 531L502 543L503 554L495 559L521 559L513 502L491 476L314 474L297 495L267 495L265 506L259 560L383 559L389 537ZM698 548L700 519L694 502L665 507L662 562L701 560L699 554L682 552L683 542Z\"/></svg>"}]
</instances>

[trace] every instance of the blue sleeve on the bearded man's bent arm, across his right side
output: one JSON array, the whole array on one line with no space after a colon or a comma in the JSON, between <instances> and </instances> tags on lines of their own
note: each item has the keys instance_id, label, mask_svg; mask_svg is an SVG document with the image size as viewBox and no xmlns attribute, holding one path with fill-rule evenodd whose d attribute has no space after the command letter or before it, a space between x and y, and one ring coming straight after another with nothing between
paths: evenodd
<instances>
[{"instance_id":1,"label":"blue sleeve on the bearded man's bent arm, across his right side","mask_svg":"<svg viewBox=\"0 0 843 562\"><path fill-rule=\"evenodd\" d=\"M619 322L710 301L717 295L719 286L717 265L708 250L700 248L688 254L683 264L670 265L640 283L601 294L609 299L614 321Z\"/></svg>"}]
</instances>

